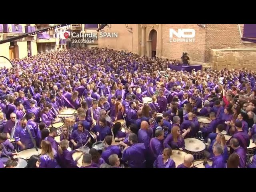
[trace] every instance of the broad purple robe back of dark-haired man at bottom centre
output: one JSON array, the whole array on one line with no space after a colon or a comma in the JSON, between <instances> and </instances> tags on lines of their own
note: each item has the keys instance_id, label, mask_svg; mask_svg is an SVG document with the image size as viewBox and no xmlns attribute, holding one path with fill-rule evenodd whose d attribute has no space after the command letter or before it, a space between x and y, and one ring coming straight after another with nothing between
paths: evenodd
<instances>
[{"instance_id":1,"label":"broad purple robe back of dark-haired man at bottom centre","mask_svg":"<svg viewBox=\"0 0 256 192\"><path fill-rule=\"evenodd\" d=\"M124 150L122 160L130 168L145 168L146 147L144 143L136 143Z\"/></svg>"}]
</instances>

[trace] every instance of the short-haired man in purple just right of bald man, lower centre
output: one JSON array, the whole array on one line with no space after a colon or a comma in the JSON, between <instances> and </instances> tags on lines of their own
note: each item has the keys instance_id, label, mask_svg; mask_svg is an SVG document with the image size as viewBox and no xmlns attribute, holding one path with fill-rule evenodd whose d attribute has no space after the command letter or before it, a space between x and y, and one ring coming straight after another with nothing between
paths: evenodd
<instances>
[{"instance_id":1,"label":"short-haired man in purple just right of bald man, lower centre","mask_svg":"<svg viewBox=\"0 0 256 192\"><path fill-rule=\"evenodd\" d=\"M155 131L155 137L150 140L150 151L151 151L151 160L152 164L154 161L158 158L159 155L162 154L162 151L164 150L164 130L161 128L156 129Z\"/></svg>"}]
</instances>

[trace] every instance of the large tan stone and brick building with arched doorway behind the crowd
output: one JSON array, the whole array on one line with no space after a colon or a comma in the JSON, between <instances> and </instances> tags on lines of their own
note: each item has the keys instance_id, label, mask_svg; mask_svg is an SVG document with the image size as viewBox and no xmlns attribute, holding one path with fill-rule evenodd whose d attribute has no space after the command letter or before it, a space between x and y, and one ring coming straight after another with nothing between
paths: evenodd
<instances>
[{"instance_id":1,"label":"large tan stone and brick building with arched doorway behind the crowd","mask_svg":"<svg viewBox=\"0 0 256 192\"><path fill-rule=\"evenodd\" d=\"M180 59L187 52L190 64L222 68L256 68L256 44L243 41L246 24L109 24L103 32L118 38L98 38L91 46L126 50L139 55ZM247 24L248 25L248 24ZM170 42L170 28L194 29L194 42ZM253 38L253 37L252 37Z\"/></svg>"}]
</instances>

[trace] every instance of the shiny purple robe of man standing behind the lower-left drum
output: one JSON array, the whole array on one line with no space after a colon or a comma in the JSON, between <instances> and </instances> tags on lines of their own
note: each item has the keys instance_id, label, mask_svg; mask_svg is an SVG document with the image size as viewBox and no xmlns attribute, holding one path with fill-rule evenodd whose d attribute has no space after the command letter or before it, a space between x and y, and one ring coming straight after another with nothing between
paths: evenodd
<instances>
[{"instance_id":1,"label":"shiny purple robe of man standing behind the lower-left drum","mask_svg":"<svg viewBox=\"0 0 256 192\"><path fill-rule=\"evenodd\" d=\"M34 132L34 129L30 125L27 125L27 127L29 128L32 134L32 137L35 139L36 134ZM32 142L32 139L30 138L27 128L22 128L22 126L17 126L14 132L14 138L16 142L18 141L22 142L22 144L25 145L26 149L30 149L34 147L34 144Z\"/></svg>"}]
</instances>

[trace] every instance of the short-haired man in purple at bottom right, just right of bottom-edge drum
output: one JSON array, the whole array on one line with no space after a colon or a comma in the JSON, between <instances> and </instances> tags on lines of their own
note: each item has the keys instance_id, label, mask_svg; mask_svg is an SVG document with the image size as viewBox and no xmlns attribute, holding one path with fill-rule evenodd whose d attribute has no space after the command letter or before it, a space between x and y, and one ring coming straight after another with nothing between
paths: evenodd
<instances>
[{"instance_id":1,"label":"short-haired man in purple at bottom right, just right of bottom-edge drum","mask_svg":"<svg viewBox=\"0 0 256 192\"><path fill-rule=\"evenodd\" d=\"M204 166L205 168L226 168L226 161L224 160L222 156L223 148L220 144L216 144L213 147L213 153L214 157L210 158L212 160L212 166L210 166L207 162L207 160L204 160Z\"/></svg>"}]
</instances>

